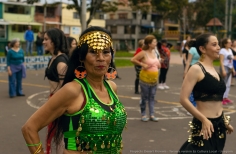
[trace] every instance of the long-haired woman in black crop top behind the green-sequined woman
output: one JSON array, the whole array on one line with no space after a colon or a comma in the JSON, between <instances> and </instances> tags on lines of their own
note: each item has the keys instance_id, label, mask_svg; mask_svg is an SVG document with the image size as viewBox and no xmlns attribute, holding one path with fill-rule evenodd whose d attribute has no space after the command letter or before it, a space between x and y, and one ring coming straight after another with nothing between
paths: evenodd
<instances>
[{"instance_id":1,"label":"long-haired woman in black crop top behind the green-sequined woman","mask_svg":"<svg viewBox=\"0 0 236 154\"><path fill-rule=\"evenodd\" d=\"M43 41L44 49L46 53L50 53L52 58L48 63L48 67L45 70L45 77L48 78L50 85L50 96L52 96L56 91L58 91L64 81L67 61L68 61L68 43L66 36L63 31L57 28L49 29L44 34ZM48 134L52 130L51 124L48 125ZM54 130L53 130L54 132ZM52 135L47 137L46 151L48 154L50 152ZM58 154L60 154L57 149Z\"/></svg>"}]
</instances>

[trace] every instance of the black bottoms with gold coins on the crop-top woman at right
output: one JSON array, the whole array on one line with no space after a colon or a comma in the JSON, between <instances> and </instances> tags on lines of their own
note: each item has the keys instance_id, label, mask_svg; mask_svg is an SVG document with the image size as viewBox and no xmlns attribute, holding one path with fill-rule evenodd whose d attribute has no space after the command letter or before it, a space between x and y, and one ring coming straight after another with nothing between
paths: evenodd
<instances>
[{"instance_id":1,"label":"black bottoms with gold coins on the crop-top woman at right","mask_svg":"<svg viewBox=\"0 0 236 154\"><path fill-rule=\"evenodd\" d=\"M182 145L178 154L222 154L226 141L226 127L224 124L223 114L218 118L208 118L214 127L212 137L208 140L200 136L202 123L196 118L193 118L190 124L191 134L188 140Z\"/></svg>"}]
</instances>

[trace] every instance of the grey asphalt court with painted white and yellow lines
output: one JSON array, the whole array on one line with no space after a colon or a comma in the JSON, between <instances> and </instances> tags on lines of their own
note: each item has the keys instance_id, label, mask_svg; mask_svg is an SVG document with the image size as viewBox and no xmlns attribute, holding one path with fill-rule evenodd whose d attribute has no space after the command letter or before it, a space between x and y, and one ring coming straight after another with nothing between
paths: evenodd
<instances>
[{"instance_id":1,"label":"grey asphalt court with painted white and yellow lines","mask_svg":"<svg viewBox=\"0 0 236 154\"><path fill-rule=\"evenodd\" d=\"M141 122L139 100L134 94L135 71L133 67L118 68L122 79L114 80L118 85L118 95L128 112L128 128L123 133L124 154L156 153L176 154L188 138L188 122L191 116L179 104L179 93L183 79L183 66L178 54L173 54L167 75L169 90L157 90L155 114L159 122ZM8 96L8 77L0 73L0 154L27 154L28 149L21 134L21 126L48 98L48 81L44 80L44 70L28 70L23 81L25 97ZM236 103L236 87L232 87L230 98ZM236 105L224 106L224 111L232 117L231 124L236 129ZM53 112L52 112L53 113ZM46 130L40 132L45 143ZM224 153L236 153L234 139L236 133L227 136Z\"/></svg>"}]
</instances>

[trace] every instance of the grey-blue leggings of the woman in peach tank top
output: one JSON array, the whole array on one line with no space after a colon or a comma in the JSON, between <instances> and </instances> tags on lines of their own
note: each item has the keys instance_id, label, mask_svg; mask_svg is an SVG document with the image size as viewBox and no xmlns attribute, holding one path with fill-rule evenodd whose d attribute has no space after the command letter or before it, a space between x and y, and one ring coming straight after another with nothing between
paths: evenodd
<instances>
[{"instance_id":1,"label":"grey-blue leggings of the woman in peach tank top","mask_svg":"<svg viewBox=\"0 0 236 154\"><path fill-rule=\"evenodd\" d=\"M149 114L154 116L154 98L156 95L157 86L149 86L142 82L139 83L141 88L140 109L142 116L146 115L146 102L148 102Z\"/></svg>"}]
</instances>

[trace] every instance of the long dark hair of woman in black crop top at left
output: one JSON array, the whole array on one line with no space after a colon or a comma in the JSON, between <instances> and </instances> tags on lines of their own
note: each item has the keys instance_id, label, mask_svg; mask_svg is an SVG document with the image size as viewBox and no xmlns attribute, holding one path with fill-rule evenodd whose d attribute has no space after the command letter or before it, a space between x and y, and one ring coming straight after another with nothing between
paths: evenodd
<instances>
[{"instance_id":1,"label":"long dark hair of woman in black crop top at left","mask_svg":"<svg viewBox=\"0 0 236 154\"><path fill-rule=\"evenodd\" d=\"M58 28L51 28L47 30L44 34L47 34L48 37L52 40L54 44L54 55L58 54L58 51L65 53L66 55L69 54L69 45L67 42L67 38L64 32ZM48 51L46 51L48 53Z\"/></svg>"}]
</instances>

